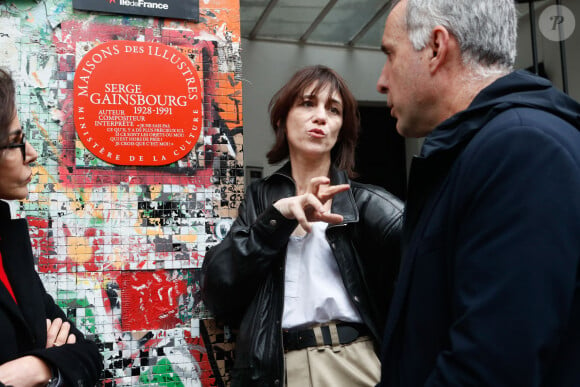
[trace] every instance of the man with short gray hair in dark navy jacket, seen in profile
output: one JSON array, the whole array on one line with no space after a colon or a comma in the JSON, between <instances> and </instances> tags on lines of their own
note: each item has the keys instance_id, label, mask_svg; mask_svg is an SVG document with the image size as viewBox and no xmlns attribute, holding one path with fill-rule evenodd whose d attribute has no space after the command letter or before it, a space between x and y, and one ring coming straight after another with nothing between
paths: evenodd
<instances>
[{"instance_id":1,"label":"man with short gray hair in dark navy jacket, seen in profile","mask_svg":"<svg viewBox=\"0 0 580 387\"><path fill-rule=\"evenodd\" d=\"M413 159L380 386L580 386L580 105L513 0L402 0L378 80Z\"/></svg>"}]
</instances>

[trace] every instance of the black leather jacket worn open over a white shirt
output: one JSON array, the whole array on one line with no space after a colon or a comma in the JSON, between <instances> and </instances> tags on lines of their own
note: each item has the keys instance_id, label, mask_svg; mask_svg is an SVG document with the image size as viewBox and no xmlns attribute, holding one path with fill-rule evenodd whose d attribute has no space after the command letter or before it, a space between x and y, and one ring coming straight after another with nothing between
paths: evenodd
<instances>
[{"instance_id":1,"label":"black leather jacket worn open over a white shirt","mask_svg":"<svg viewBox=\"0 0 580 387\"><path fill-rule=\"evenodd\" d=\"M384 189L350 181L335 168L330 178L351 189L333 198L332 212L344 220L329 225L326 237L345 288L378 345L399 268L403 205ZM284 266L298 223L272 204L295 191L289 163L253 183L229 233L203 262L206 306L217 319L239 327L233 387L284 383Z\"/></svg>"}]
</instances>

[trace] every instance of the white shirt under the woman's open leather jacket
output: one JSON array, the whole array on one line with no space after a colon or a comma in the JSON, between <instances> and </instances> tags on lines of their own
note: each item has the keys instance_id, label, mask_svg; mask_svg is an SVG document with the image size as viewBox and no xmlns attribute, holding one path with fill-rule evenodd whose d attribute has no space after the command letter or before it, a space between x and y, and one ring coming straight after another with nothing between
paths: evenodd
<instances>
[{"instance_id":1,"label":"white shirt under the woman's open leather jacket","mask_svg":"<svg viewBox=\"0 0 580 387\"><path fill-rule=\"evenodd\" d=\"M291 236L286 250L282 328L328 321L362 322L344 287L325 237L325 222L305 236Z\"/></svg>"}]
</instances>

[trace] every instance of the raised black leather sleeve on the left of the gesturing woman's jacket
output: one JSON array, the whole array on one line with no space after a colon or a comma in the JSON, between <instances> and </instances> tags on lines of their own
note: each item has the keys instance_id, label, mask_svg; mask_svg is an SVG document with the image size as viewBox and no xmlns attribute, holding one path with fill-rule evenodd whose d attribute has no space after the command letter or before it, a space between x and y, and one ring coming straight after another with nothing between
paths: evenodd
<instances>
[{"instance_id":1,"label":"raised black leather sleeve on the left of the gesturing woman's jacket","mask_svg":"<svg viewBox=\"0 0 580 387\"><path fill-rule=\"evenodd\" d=\"M274 200L272 200L273 202ZM248 190L238 217L223 241L212 247L203 262L202 298L220 320L237 325L266 275L279 267L296 220L286 219Z\"/></svg>"}]
</instances>

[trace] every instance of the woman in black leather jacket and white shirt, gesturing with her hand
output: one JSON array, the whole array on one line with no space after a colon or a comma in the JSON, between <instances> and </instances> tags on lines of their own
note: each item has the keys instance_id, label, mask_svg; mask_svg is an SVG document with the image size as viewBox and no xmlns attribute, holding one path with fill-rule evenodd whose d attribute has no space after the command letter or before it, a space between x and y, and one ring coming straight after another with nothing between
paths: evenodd
<instances>
[{"instance_id":1,"label":"woman in black leather jacket and white shirt, gesturing with her hand","mask_svg":"<svg viewBox=\"0 0 580 387\"><path fill-rule=\"evenodd\" d=\"M402 204L351 181L359 117L325 66L274 95L277 172L252 183L206 254L202 296L239 328L232 386L375 386L399 264Z\"/></svg>"}]
</instances>

